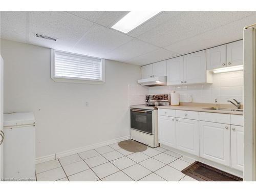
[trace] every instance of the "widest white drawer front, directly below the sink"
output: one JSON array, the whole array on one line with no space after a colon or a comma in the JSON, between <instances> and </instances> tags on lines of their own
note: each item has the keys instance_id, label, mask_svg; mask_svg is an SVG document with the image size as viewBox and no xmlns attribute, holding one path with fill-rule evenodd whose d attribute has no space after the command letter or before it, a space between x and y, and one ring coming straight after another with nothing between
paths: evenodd
<instances>
[{"instance_id":1,"label":"widest white drawer front, directly below the sink","mask_svg":"<svg viewBox=\"0 0 256 192\"><path fill-rule=\"evenodd\" d=\"M199 112L199 120L230 124L230 114Z\"/></svg>"}]
</instances>

